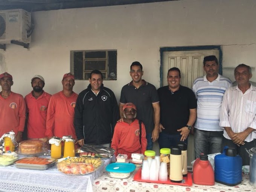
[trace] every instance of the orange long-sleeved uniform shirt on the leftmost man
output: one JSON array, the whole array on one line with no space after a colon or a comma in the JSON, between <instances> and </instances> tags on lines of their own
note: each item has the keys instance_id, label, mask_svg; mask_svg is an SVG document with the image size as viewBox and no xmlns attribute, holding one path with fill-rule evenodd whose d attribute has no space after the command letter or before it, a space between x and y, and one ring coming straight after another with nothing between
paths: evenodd
<instances>
[{"instance_id":1,"label":"orange long-sleeved uniform shirt on the leftmost man","mask_svg":"<svg viewBox=\"0 0 256 192\"><path fill-rule=\"evenodd\" d=\"M0 95L0 137L9 131L24 131L26 104L23 96L11 92L8 98Z\"/></svg>"}]
</instances>

